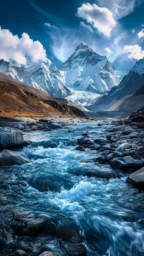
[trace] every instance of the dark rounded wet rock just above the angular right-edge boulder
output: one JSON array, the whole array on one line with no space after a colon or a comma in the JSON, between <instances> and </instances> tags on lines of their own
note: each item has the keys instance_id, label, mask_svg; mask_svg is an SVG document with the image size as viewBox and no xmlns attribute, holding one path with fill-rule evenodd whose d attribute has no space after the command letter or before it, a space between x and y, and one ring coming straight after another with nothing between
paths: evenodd
<instances>
[{"instance_id":1,"label":"dark rounded wet rock just above the angular right-edge boulder","mask_svg":"<svg viewBox=\"0 0 144 256\"><path fill-rule=\"evenodd\" d=\"M128 169L137 170L143 166L143 162L131 156L124 156L123 158L113 158L110 161L110 166L113 169L121 169L124 171Z\"/></svg>"}]
</instances>

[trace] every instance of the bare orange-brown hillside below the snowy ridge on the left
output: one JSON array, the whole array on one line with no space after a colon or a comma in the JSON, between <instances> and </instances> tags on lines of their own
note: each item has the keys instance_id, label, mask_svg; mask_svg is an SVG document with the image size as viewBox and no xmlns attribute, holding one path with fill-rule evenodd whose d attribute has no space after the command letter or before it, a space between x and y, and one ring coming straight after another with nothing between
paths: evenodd
<instances>
[{"instance_id":1,"label":"bare orange-brown hillside below the snowy ridge on the left","mask_svg":"<svg viewBox=\"0 0 144 256\"><path fill-rule=\"evenodd\" d=\"M0 115L84 116L76 105L68 106L47 93L0 73Z\"/></svg>"}]
</instances>

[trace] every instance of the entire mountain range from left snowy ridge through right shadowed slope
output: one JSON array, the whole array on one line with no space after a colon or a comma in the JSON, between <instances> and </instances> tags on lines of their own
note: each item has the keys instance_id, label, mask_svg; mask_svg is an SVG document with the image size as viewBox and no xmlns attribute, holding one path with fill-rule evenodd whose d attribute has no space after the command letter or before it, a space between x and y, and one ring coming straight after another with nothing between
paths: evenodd
<instances>
[{"instance_id":1,"label":"entire mountain range from left snowy ridge through right shadowed slope","mask_svg":"<svg viewBox=\"0 0 144 256\"><path fill-rule=\"evenodd\" d=\"M26 65L1 59L0 72L48 93L58 102L82 104L93 113L131 112L144 106L144 58L122 78L106 56L84 42L59 68L48 58L34 63L27 57Z\"/></svg>"}]
</instances>

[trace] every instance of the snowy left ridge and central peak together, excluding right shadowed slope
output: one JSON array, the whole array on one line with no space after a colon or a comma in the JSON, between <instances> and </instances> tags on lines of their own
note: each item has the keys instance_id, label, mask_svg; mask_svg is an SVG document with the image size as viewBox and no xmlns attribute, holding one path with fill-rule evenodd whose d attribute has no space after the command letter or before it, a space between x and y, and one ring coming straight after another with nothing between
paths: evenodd
<instances>
[{"instance_id":1,"label":"snowy left ridge and central peak together, excluding right shadowed slope","mask_svg":"<svg viewBox=\"0 0 144 256\"><path fill-rule=\"evenodd\" d=\"M51 97L67 98L84 105L94 103L120 81L118 71L107 57L96 54L84 42L59 69L47 58L34 63L27 57L26 65L1 59L0 72L43 90Z\"/></svg>"}]
</instances>

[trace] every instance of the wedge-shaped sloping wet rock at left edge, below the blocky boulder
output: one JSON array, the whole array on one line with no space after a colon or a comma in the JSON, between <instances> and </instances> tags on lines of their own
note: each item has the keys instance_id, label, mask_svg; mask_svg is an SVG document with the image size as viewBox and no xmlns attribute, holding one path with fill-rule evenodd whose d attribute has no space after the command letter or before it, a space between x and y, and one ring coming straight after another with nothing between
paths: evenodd
<instances>
[{"instance_id":1,"label":"wedge-shaped sloping wet rock at left edge, below the blocky boulder","mask_svg":"<svg viewBox=\"0 0 144 256\"><path fill-rule=\"evenodd\" d=\"M20 166L27 163L30 163L30 159L22 153L7 149L0 153L0 166Z\"/></svg>"}]
</instances>

